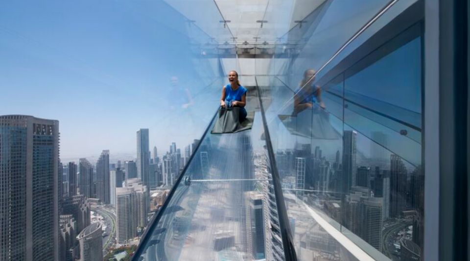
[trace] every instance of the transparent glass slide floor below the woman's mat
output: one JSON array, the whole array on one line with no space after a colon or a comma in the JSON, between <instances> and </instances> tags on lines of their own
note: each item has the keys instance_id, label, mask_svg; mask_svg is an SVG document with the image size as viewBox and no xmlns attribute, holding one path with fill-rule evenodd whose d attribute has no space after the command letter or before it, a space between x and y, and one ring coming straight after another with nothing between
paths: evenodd
<instances>
[{"instance_id":1,"label":"transparent glass slide floor below the woman's mat","mask_svg":"<svg viewBox=\"0 0 470 261\"><path fill-rule=\"evenodd\" d=\"M251 130L210 134L209 126L142 242L143 259L265 258L265 141L254 88L249 88L245 108L254 114Z\"/></svg>"}]
</instances>

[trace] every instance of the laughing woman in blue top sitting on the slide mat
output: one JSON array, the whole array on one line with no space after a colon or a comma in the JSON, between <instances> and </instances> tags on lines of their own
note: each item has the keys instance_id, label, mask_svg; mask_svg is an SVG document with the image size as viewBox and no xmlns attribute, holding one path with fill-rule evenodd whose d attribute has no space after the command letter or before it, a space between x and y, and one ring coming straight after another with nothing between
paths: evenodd
<instances>
[{"instance_id":1,"label":"laughing woman in blue top sitting on the slide mat","mask_svg":"<svg viewBox=\"0 0 470 261\"><path fill-rule=\"evenodd\" d=\"M229 72L229 84L222 87L222 96L220 97L220 107L231 108L240 107L240 122L246 119L246 89L238 81L236 71Z\"/></svg>"}]
</instances>

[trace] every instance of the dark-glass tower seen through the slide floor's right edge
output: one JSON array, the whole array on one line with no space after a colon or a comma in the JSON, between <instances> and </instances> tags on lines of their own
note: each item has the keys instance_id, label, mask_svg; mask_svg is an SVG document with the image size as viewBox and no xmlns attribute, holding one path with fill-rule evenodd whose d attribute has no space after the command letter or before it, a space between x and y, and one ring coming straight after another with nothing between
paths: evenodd
<instances>
[{"instance_id":1,"label":"dark-glass tower seen through the slide floor's right edge","mask_svg":"<svg viewBox=\"0 0 470 261\"><path fill-rule=\"evenodd\" d=\"M264 259L263 195L255 191L245 192L247 252L253 259Z\"/></svg>"}]
</instances>

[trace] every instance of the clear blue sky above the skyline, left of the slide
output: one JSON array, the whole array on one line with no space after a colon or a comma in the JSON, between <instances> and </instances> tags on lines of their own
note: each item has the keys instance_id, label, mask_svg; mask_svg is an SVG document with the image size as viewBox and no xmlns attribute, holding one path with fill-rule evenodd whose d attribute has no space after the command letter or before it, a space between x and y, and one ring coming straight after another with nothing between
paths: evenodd
<instances>
[{"instance_id":1,"label":"clear blue sky above the skyline, left of the slide","mask_svg":"<svg viewBox=\"0 0 470 261\"><path fill-rule=\"evenodd\" d=\"M213 110L168 110L178 102L168 96L170 77L195 103L215 99L215 109L218 97L192 69L199 57L187 32L162 1L2 1L0 115L58 119L66 158L133 153L139 128L150 129L161 152L173 141L184 147ZM211 75L209 63L197 62Z\"/></svg>"}]
</instances>

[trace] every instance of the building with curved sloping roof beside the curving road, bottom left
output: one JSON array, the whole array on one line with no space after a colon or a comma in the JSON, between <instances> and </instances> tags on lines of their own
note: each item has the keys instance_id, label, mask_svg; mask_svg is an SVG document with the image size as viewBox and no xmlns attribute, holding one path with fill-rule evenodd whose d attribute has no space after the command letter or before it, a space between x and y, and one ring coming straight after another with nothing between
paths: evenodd
<instances>
[{"instance_id":1,"label":"building with curved sloping roof beside the curving road, bottom left","mask_svg":"<svg viewBox=\"0 0 470 261\"><path fill-rule=\"evenodd\" d=\"M79 261L103 261L103 232L101 222L86 227L78 234L80 243Z\"/></svg>"}]
</instances>

